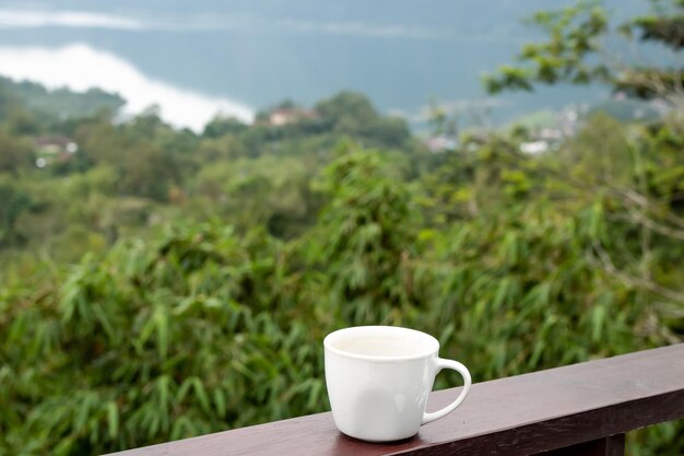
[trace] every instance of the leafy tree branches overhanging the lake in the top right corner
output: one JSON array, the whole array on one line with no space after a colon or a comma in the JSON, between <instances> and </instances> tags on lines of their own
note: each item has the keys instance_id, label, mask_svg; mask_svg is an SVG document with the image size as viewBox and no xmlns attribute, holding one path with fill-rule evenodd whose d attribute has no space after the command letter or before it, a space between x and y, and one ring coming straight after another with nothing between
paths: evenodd
<instances>
[{"instance_id":1,"label":"leafy tree branches overhanging the lake in the top right corner","mask_svg":"<svg viewBox=\"0 0 684 456\"><path fill-rule=\"evenodd\" d=\"M663 44L680 51L684 44L684 4L679 0L653 1L652 14L634 17L617 27L628 39ZM661 65L615 65L614 49L604 48L611 33L606 12L599 1L579 1L559 11L536 13L529 22L540 27L546 40L526 44L520 66L504 66L483 78L486 90L532 91L534 84L568 82L608 83L614 91L650 100L668 98L682 86L682 69Z\"/></svg>"}]
</instances>

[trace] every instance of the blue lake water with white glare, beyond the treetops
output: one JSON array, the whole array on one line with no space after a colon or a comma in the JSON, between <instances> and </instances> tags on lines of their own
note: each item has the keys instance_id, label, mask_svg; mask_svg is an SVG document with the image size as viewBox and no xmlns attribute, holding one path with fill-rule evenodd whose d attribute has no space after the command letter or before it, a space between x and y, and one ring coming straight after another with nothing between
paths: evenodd
<instances>
[{"instance_id":1,"label":"blue lake water with white glare, beyond the treetops","mask_svg":"<svg viewBox=\"0 0 684 456\"><path fill-rule=\"evenodd\" d=\"M131 113L157 104L194 129L216 112L248 120L284 98L310 105L340 90L417 121L431 100L487 104L505 119L604 96L601 87L559 89L493 101L482 91L480 75L535 37L518 19L566 3L0 1L0 74L101 86Z\"/></svg>"}]
</instances>

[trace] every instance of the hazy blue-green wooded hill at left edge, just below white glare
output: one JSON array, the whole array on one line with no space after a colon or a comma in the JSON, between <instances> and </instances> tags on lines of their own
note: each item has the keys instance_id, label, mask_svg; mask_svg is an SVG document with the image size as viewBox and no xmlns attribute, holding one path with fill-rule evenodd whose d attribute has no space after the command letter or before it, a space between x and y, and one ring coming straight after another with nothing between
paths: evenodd
<instances>
[{"instance_id":1,"label":"hazy blue-green wooded hill at left edge, just below white glare","mask_svg":"<svg viewBox=\"0 0 684 456\"><path fill-rule=\"evenodd\" d=\"M12 98L36 114L61 119L87 117L102 109L116 113L126 104L119 95L99 89L91 89L84 93L68 89L50 91L33 82L15 82L0 77L0 103Z\"/></svg>"}]
</instances>

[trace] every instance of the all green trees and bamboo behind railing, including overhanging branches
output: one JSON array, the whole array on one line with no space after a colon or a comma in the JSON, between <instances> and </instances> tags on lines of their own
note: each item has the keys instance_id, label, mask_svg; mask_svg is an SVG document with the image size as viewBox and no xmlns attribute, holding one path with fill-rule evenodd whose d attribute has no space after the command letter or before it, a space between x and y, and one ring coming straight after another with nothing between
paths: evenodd
<instances>
[{"instance_id":1,"label":"all green trees and bamboo behind railing, including overhanging branches","mask_svg":"<svg viewBox=\"0 0 684 456\"><path fill-rule=\"evenodd\" d=\"M684 3L654 11L627 28L679 51ZM667 109L436 151L351 92L196 133L0 81L0 455L326 410L321 340L344 326L431 332L475 382L681 342L681 68L585 63L611 27L595 5L534 21L551 40L490 89L598 78ZM683 430L633 433L629 454L681 454Z\"/></svg>"}]
</instances>

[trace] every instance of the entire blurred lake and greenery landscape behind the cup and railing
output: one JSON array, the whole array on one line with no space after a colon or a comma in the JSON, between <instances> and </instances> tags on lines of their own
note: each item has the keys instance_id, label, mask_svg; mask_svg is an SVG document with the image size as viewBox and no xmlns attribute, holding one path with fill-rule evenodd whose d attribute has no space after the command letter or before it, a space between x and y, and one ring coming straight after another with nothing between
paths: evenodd
<instances>
[{"instance_id":1,"label":"entire blurred lake and greenery landscape behind the cup and railing","mask_svg":"<svg viewBox=\"0 0 684 456\"><path fill-rule=\"evenodd\" d=\"M0 1L0 455L328 410L321 341L352 325L431 332L475 382L681 342L683 23Z\"/></svg>"}]
</instances>

